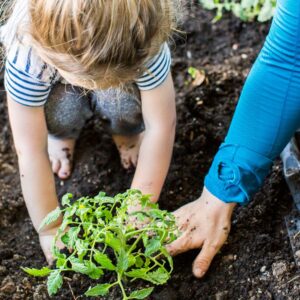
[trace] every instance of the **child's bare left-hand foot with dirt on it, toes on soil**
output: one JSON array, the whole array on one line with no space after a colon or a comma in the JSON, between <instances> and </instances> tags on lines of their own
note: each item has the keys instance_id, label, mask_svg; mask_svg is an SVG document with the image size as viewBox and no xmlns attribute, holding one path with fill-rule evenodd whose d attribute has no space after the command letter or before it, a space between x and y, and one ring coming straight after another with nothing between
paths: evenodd
<instances>
[{"instance_id":1,"label":"child's bare left-hand foot with dirt on it, toes on soil","mask_svg":"<svg viewBox=\"0 0 300 300\"><path fill-rule=\"evenodd\" d=\"M58 139L48 135L48 153L54 174L61 179L71 175L74 139Z\"/></svg>"}]
</instances>

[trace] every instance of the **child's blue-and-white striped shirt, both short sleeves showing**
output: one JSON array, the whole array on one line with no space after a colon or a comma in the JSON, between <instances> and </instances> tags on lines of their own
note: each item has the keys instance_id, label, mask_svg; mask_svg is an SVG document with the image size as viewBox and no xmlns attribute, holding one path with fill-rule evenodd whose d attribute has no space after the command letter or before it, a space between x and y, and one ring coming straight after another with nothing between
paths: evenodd
<instances>
[{"instance_id":1,"label":"child's blue-and-white striped shirt, both short sleeves showing","mask_svg":"<svg viewBox=\"0 0 300 300\"><path fill-rule=\"evenodd\" d=\"M147 64L147 71L136 79L140 90L161 85L170 71L171 54L167 44ZM16 102L27 106L42 106L47 102L51 87L64 82L58 71L46 64L30 46L14 43L5 64L5 88Z\"/></svg>"}]
</instances>

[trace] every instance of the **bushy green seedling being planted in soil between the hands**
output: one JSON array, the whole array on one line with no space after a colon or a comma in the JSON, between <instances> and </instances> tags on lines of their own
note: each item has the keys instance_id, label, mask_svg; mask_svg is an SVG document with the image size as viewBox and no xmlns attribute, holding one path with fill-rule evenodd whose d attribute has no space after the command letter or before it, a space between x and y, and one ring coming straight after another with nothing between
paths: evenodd
<instances>
[{"instance_id":1,"label":"bushy green seedling being planted in soil between the hands","mask_svg":"<svg viewBox=\"0 0 300 300\"><path fill-rule=\"evenodd\" d=\"M89 288L86 296L105 296L113 287L119 286L124 300L144 299L151 294L153 286L132 291L129 295L126 286L137 279L152 285L167 282L173 261L164 245L178 236L172 214L160 210L157 204L150 202L149 195L142 195L137 190L128 190L113 198L103 192L75 202L72 198L71 194L66 194L62 198L63 208L51 212L41 225L51 224L63 215L52 247L55 268L23 268L32 276L48 276L50 296L61 288L64 272L70 271L97 280L98 284ZM128 209L132 207L141 209L129 213ZM69 251L56 246L59 240ZM105 278L111 280L101 281L107 273L111 276Z\"/></svg>"}]
</instances>

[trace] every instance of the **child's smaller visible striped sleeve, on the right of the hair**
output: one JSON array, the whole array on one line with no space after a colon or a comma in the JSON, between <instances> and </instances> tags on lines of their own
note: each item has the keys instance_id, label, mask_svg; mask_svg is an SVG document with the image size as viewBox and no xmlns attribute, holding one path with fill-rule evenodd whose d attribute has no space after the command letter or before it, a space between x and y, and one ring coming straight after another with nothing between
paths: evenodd
<instances>
[{"instance_id":1,"label":"child's smaller visible striped sleeve, on the right of the hair","mask_svg":"<svg viewBox=\"0 0 300 300\"><path fill-rule=\"evenodd\" d=\"M146 65L146 72L136 80L142 91L152 90L160 86L167 78L171 67L171 53L165 43L161 51Z\"/></svg>"}]
</instances>

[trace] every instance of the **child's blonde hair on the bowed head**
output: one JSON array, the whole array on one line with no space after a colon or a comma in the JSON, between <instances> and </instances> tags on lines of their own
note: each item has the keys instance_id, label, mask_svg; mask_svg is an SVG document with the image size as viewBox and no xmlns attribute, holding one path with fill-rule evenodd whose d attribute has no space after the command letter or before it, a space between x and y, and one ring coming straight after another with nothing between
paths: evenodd
<instances>
[{"instance_id":1,"label":"child's blonde hair on the bowed head","mask_svg":"<svg viewBox=\"0 0 300 300\"><path fill-rule=\"evenodd\" d=\"M145 71L145 62L176 28L180 5L180 0L16 0L7 25L70 83L108 88Z\"/></svg>"}]
</instances>

